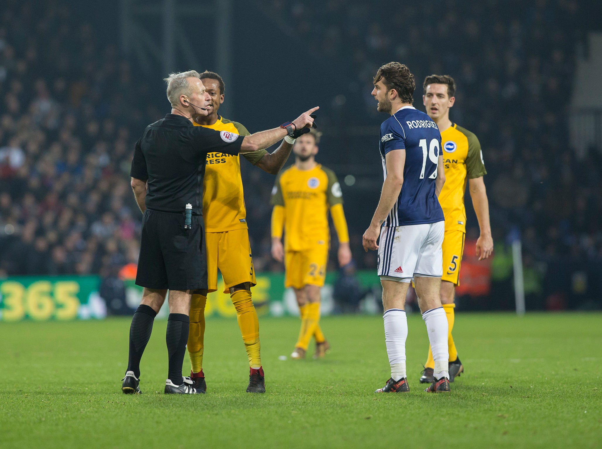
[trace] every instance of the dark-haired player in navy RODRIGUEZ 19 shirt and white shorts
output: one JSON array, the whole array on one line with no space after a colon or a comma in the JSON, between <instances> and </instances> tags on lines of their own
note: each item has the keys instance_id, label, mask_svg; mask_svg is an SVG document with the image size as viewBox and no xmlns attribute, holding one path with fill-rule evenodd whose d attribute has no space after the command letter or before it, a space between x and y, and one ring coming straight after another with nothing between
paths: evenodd
<instances>
[{"instance_id":1,"label":"dark-haired player in navy RODRIGUEZ 19 shirt and white shorts","mask_svg":"<svg viewBox=\"0 0 602 449\"><path fill-rule=\"evenodd\" d=\"M372 95L378 111L391 115L380 126L385 182L363 237L365 251L378 249L386 353L391 365L391 377L376 392L409 391L405 298L412 279L435 359L433 382L425 391L450 391L447 320L439 299L444 218L437 195L445 183L441 135L435 122L412 106L414 89L414 75L400 63L385 64L374 76Z\"/></svg>"}]
</instances>

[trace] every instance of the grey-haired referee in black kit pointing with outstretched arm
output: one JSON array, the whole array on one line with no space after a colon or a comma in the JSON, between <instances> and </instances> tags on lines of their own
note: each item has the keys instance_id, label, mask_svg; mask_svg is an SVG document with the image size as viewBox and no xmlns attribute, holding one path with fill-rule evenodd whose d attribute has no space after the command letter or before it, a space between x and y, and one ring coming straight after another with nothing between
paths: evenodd
<instances>
[{"instance_id":1,"label":"grey-haired referee in black kit pointing with outstretched arm","mask_svg":"<svg viewBox=\"0 0 602 449\"><path fill-rule=\"evenodd\" d=\"M182 377L182 362L188 340L191 291L207 289L202 216L207 153L236 155L268 148L287 134L296 136L309 131L314 121L310 114L318 109L301 114L293 123L243 137L193 126L193 117L207 115L205 106L211 100L199 73L172 73L165 81L172 112L146 127L136 142L132 159L132 189L144 213L136 284L144 287L144 292L129 328L124 393L140 393L140 358L167 290L169 374L165 392L197 393L191 380Z\"/></svg>"}]
</instances>

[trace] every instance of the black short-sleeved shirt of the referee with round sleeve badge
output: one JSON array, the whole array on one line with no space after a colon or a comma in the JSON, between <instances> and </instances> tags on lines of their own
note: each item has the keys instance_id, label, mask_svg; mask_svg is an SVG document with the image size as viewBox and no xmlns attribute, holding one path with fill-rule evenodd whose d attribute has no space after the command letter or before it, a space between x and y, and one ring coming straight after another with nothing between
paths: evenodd
<instances>
[{"instance_id":1,"label":"black short-sleeved shirt of the referee with round sleeve badge","mask_svg":"<svg viewBox=\"0 0 602 449\"><path fill-rule=\"evenodd\" d=\"M194 126L181 115L167 114L147 126L136 142L129 174L147 180L147 209L184 212L190 203L193 215L202 215L207 153L236 156L242 143L238 134Z\"/></svg>"}]
</instances>

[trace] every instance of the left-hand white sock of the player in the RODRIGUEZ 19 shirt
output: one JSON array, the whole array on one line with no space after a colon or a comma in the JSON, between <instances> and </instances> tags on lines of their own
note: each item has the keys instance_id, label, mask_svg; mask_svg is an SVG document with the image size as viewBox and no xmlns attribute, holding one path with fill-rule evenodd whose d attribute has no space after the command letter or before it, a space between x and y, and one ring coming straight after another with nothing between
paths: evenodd
<instances>
[{"instance_id":1,"label":"left-hand white sock of the player in the RODRIGUEZ 19 shirt","mask_svg":"<svg viewBox=\"0 0 602 449\"><path fill-rule=\"evenodd\" d=\"M445 317L445 313L443 316ZM408 317L401 309L389 309L382 317L385 322L386 355L389 356L389 365L391 365L391 379L397 382L402 377L406 377Z\"/></svg>"}]
</instances>

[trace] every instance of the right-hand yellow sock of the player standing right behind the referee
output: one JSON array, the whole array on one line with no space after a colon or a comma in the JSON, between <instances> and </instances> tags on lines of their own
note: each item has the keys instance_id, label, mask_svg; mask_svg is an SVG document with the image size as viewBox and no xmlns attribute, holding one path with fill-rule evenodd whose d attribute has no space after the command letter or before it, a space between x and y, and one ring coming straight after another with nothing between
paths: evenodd
<instances>
[{"instance_id":1,"label":"right-hand yellow sock of the player standing right behind the referee","mask_svg":"<svg viewBox=\"0 0 602 449\"><path fill-rule=\"evenodd\" d=\"M259 345L259 320L249 290L237 290L230 295L236 309L236 319L240 334L243 336L244 349L249 357L251 368L261 367L261 348Z\"/></svg>"}]
</instances>

